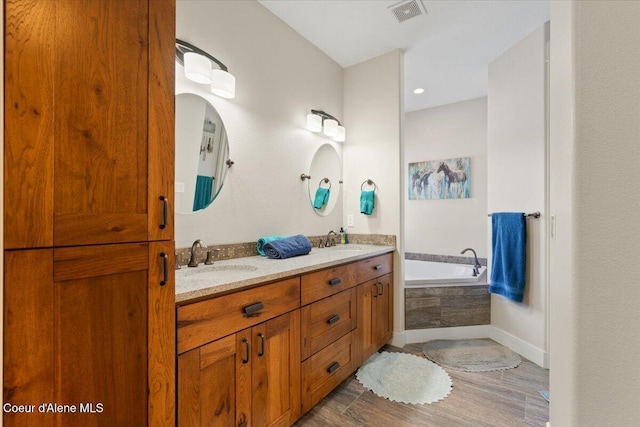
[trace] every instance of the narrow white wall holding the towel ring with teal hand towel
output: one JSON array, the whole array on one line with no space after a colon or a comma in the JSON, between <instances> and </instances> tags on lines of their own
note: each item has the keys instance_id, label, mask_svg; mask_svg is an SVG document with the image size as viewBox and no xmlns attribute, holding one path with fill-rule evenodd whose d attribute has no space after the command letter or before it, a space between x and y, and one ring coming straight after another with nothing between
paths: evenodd
<instances>
[{"instance_id":1,"label":"narrow white wall holding the towel ring with teal hand towel","mask_svg":"<svg viewBox=\"0 0 640 427\"><path fill-rule=\"evenodd\" d=\"M350 233L394 234L394 330L404 329L400 179L402 153L403 53L394 50L351 66L344 72L344 224L354 216ZM372 215L360 213L360 187L373 180L378 189Z\"/></svg>"}]
</instances>

